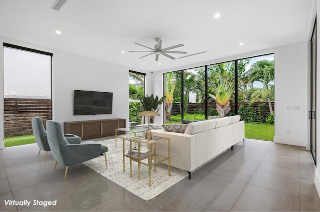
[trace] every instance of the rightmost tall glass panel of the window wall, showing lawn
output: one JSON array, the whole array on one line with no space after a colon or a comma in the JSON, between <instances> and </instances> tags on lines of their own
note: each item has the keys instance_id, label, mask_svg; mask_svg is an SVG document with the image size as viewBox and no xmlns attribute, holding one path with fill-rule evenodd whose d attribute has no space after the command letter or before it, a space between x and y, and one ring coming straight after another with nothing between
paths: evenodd
<instances>
[{"instance_id":1,"label":"rightmost tall glass panel of the window wall, showing lawn","mask_svg":"<svg viewBox=\"0 0 320 212\"><path fill-rule=\"evenodd\" d=\"M237 60L237 113L245 137L273 141L274 54Z\"/></svg>"}]
</instances>

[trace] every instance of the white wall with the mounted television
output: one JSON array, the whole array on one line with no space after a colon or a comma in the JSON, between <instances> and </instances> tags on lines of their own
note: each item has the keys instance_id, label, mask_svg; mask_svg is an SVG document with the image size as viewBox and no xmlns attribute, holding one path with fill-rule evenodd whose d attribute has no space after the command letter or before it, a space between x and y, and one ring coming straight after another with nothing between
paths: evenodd
<instances>
[{"instance_id":1,"label":"white wall with the mounted television","mask_svg":"<svg viewBox=\"0 0 320 212\"><path fill-rule=\"evenodd\" d=\"M62 127L66 121L110 118L125 118L128 126L129 70L146 73L146 93L151 91L151 72L0 37L0 149L3 148L3 42L53 53L52 119ZM75 89L112 92L112 114L73 116Z\"/></svg>"}]
</instances>

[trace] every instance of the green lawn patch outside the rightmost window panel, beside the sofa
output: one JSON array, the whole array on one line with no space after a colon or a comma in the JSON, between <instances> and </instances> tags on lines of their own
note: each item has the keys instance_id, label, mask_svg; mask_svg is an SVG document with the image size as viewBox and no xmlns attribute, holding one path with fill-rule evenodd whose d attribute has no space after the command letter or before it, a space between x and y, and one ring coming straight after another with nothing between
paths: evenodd
<instances>
[{"instance_id":1,"label":"green lawn patch outside the rightmost window panel, beside the sofa","mask_svg":"<svg viewBox=\"0 0 320 212\"><path fill-rule=\"evenodd\" d=\"M259 123L244 123L244 137L273 141L274 125Z\"/></svg>"}]
</instances>

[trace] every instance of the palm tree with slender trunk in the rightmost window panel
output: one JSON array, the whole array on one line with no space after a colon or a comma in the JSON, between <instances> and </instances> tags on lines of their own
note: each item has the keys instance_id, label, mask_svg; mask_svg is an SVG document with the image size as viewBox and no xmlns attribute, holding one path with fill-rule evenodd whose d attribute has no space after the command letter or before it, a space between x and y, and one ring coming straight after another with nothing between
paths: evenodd
<instances>
[{"instance_id":1,"label":"palm tree with slender trunk in the rightmost window panel","mask_svg":"<svg viewBox=\"0 0 320 212\"><path fill-rule=\"evenodd\" d=\"M273 115L273 109L270 100L269 83L274 82L274 61L262 59L253 63L250 70L247 71L249 83L251 86L253 82L258 81L263 84L263 89L268 99L270 114Z\"/></svg>"}]
</instances>

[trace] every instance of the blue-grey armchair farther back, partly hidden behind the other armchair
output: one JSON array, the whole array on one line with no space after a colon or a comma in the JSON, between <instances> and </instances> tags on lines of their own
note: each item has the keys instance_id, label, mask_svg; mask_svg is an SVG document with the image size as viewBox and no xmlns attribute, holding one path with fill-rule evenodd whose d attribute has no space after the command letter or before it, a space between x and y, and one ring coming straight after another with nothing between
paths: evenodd
<instances>
[{"instance_id":1,"label":"blue-grey armchair farther back, partly hidden behind the other armchair","mask_svg":"<svg viewBox=\"0 0 320 212\"><path fill-rule=\"evenodd\" d=\"M38 157L40 155L40 151L41 150L45 151L45 156L44 156L44 163L45 163L48 151L50 151L50 147L49 147L49 144L48 144L48 140L47 140L46 132L45 132L44 127L43 127L42 120L40 118L38 118L38 117L32 117L31 118L31 123L32 123L33 135L34 135L36 144L39 147ZM79 143L81 143L81 138L76 136L76 135L65 134L64 137L66 138L68 143L71 143L71 144L79 144Z\"/></svg>"}]
</instances>

